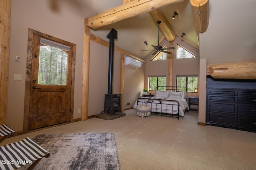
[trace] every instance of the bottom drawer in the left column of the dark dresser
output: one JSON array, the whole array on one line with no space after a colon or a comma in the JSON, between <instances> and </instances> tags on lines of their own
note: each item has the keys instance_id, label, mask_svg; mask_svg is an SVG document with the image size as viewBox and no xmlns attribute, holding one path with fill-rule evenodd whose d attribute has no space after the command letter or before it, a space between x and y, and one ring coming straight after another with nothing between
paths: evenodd
<instances>
[{"instance_id":1,"label":"bottom drawer in the left column of the dark dresser","mask_svg":"<svg viewBox=\"0 0 256 170\"><path fill-rule=\"evenodd\" d=\"M237 126L237 116L235 115L208 113L208 121L212 123Z\"/></svg>"}]
</instances>

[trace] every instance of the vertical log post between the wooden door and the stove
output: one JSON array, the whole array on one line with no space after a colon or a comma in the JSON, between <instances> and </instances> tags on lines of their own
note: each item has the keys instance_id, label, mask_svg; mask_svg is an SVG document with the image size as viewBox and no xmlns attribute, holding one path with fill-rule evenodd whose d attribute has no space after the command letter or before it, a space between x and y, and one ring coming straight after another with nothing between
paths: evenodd
<instances>
[{"instance_id":1,"label":"vertical log post between the wooden door and the stove","mask_svg":"<svg viewBox=\"0 0 256 170\"><path fill-rule=\"evenodd\" d=\"M91 30L89 28L84 27L81 121L85 121L88 119L90 35Z\"/></svg>"}]
</instances>

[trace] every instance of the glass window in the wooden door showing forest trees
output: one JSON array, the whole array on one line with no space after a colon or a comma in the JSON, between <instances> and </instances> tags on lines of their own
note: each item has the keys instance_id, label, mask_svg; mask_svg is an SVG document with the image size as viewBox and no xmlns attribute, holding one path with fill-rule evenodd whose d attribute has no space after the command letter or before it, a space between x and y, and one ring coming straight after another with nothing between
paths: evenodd
<instances>
[{"instance_id":1,"label":"glass window in the wooden door showing forest trees","mask_svg":"<svg viewBox=\"0 0 256 170\"><path fill-rule=\"evenodd\" d=\"M40 46L38 84L66 85L68 54L59 48Z\"/></svg>"}]
</instances>

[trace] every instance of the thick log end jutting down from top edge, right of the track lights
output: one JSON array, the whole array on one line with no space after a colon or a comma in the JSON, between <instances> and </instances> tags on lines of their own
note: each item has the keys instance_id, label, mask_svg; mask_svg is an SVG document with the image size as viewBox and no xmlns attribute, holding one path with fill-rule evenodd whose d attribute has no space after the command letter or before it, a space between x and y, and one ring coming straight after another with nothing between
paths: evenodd
<instances>
[{"instance_id":1,"label":"thick log end jutting down from top edge, right of the track lights","mask_svg":"<svg viewBox=\"0 0 256 170\"><path fill-rule=\"evenodd\" d=\"M190 0L196 33L206 32L209 25L209 0Z\"/></svg>"}]
</instances>

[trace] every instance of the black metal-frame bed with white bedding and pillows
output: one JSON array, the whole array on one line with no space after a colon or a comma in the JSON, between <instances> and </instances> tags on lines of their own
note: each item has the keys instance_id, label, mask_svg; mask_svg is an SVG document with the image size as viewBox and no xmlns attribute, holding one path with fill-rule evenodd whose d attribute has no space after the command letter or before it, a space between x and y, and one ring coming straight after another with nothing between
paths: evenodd
<instances>
[{"instance_id":1,"label":"black metal-frame bed with white bedding and pillows","mask_svg":"<svg viewBox=\"0 0 256 170\"><path fill-rule=\"evenodd\" d=\"M134 103L137 105L150 105L151 114L165 115L170 117L184 116L188 108L188 92L186 87L158 86L154 97L139 97Z\"/></svg>"}]
</instances>

